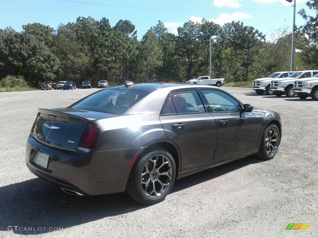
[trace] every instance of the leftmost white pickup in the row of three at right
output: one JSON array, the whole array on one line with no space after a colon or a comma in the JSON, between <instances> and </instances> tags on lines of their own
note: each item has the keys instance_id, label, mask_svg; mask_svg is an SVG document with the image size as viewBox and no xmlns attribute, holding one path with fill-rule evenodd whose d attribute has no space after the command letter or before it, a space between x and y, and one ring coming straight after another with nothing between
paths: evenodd
<instances>
[{"instance_id":1,"label":"leftmost white pickup in the row of three at right","mask_svg":"<svg viewBox=\"0 0 318 238\"><path fill-rule=\"evenodd\" d=\"M273 95L274 92L270 89L271 82L274 79L278 78L286 78L294 72L291 71L283 71L283 72L275 72L268 76L267 78L258 78L253 81L252 89L259 95L266 92L266 95Z\"/></svg>"}]
</instances>

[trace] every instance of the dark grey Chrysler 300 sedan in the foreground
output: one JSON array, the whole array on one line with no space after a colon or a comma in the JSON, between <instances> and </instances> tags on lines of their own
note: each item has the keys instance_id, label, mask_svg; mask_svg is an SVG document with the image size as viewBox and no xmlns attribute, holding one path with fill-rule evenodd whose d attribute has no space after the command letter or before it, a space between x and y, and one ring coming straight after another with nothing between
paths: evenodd
<instances>
[{"instance_id":1,"label":"dark grey Chrysler 300 sedan in the foreground","mask_svg":"<svg viewBox=\"0 0 318 238\"><path fill-rule=\"evenodd\" d=\"M155 204L176 178L253 154L272 159L281 133L278 113L218 87L126 82L66 108L38 109L26 165L68 193L127 191Z\"/></svg>"}]
</instances>

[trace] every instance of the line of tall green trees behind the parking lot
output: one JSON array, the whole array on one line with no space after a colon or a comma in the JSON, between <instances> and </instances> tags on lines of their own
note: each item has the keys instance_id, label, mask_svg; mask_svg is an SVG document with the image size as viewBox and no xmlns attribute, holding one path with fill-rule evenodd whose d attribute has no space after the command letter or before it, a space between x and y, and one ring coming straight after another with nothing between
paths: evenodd
<instances>
[{"instance_id":1,"label":"line of tall green trees behind the parking lot","mask_svg":"<svg viewBox=\"0 0 318 238\"><path fill-rule=\"evenodd\" d=\"M318 3L308 7L318 12ZM307 23L297 29L296 70L317 69L317 19L299 12ZM317 14L318 16L318 14ZM317 18L317 17L316 17ZM270 40L242 22L220 26L205 19L188 21L178 34L167 31L161 21L141 40L135 25L120 20L113 27L107 18L78 17L75 23L60 24L56 30L29 23L17 32L0 29L0 79L19 76L31 87L46 80L91 80L96 85L133 82L184 82L209 75L210 39L212 77L226 82L250 81L275 71L290 69L291 34L277 29Z\"/></svg>"}]
</instances>

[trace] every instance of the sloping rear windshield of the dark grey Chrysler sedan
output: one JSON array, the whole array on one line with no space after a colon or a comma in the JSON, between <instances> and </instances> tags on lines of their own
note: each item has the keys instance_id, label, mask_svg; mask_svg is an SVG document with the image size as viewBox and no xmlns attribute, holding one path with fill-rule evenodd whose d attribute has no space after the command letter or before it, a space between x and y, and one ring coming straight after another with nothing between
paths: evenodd
<instances>
[{"instance_id":1,"label":"sloping rear windshield of the dark grey Chrysler sedan","mask_svg":"<svg viewBox=\"0 0 318 238\"><path fill-rule=\"evenodd\" d=\"M135 90L107 89L75 102L71 108L120 115L148 94Z\"/></svg>"}]
</instances>

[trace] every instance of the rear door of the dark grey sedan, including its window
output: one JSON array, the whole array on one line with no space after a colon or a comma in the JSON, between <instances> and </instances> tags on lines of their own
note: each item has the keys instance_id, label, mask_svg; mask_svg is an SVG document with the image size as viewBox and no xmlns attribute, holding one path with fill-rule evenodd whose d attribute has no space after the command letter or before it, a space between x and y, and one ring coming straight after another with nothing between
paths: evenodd
<instances>
[{"instance_id":1,"label":"rear door of the dark grey sedan, including its window","mask_svg":"<svg viewBox=\"0 0 318 238\"><path fill-rule=\"evenodd\" d=\"M167 136L180 149L181 171L214 162L217 125L197 90L173 91L162 109L160 121Z\"/></svg>"}]
</instances>

